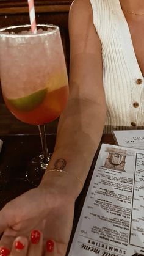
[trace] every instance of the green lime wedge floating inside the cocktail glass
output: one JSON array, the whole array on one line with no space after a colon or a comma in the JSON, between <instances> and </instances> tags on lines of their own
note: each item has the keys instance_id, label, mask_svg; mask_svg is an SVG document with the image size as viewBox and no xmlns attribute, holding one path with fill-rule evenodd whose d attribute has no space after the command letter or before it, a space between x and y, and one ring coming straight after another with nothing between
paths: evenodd
<instances>
[{"instance_id":1,"label":"green lime wedge floating inside the cocktail glass","mask_svg":"<svg viewBox=\"0 0 144 256\"><path fill-rule=\"evenodd\" d=\"M28 96L15 99L7 99L11 105L20 111L31 111L43 101L47 92L47 88L38 90Z\"/></svg>"}]
</instances>

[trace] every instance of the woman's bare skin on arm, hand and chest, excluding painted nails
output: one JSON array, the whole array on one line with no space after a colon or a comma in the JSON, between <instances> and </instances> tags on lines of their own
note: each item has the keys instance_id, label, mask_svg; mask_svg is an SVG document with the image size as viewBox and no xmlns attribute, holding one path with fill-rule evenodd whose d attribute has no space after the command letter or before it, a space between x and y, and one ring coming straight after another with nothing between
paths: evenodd
<instances>
[{"instance_id":1,"label":"woman's bare skin on arm, hand and chest, excluding painted nails","mask_svg":"<svg viewBox=\"0 0 144 256\"><path fill-rule=\"evenodd\" d=\"M143 0L121 0L124 9L144 13ZM79 10L81 10L81 15ZM135 54L144 74L144 16L124 12ZM73 225L74 203L82 190L88 170L99 145L106 118L103 91L101 42L93 26L89 0L75 0L70 9L70 98L59 121L57 141L48 170L58 159L65 159L64 170L70 175L47 172L38 188L8 203L0 212L1 246L12 248L10 256L43 255L46 240L54 241L50 255L64 256ZM43 233L43 243L31 249L31 230ZM26 239L25 251L12 247L16 236ZM21 238L22 236L22 238ZM24 236L24 238L23 238ZM15 242L14 242L15 243ZM28 249L28 243L30 246ZM30 252L29 252L30 250ZM35 251L36 250L36 251ZM40 250L40 251L38 251ZM31 253L31 254L30 254Z\"/></svg>"}]
</instances>

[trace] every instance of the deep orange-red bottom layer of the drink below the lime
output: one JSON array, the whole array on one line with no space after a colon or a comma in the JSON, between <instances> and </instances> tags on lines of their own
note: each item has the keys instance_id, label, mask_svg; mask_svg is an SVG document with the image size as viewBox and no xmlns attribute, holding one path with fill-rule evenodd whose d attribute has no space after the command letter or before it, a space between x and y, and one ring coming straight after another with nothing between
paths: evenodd
<instances>
[{"instance_id":1,"label":"deep orange-red bottom layer of the drink below the lime","mask_svg":"<svg viewBox=\"0 0 144 256\"><path fill-rule=\"evenodd\" d=\"M65 108L67 100L68 86L63 86L51 92L46 92L45 98L36 108L31 111L24 111L13 106L10 100L4 95L5 104L10 112L17 119L32 125L43 125L59 117Z\"/></svg>"}]
</instances>

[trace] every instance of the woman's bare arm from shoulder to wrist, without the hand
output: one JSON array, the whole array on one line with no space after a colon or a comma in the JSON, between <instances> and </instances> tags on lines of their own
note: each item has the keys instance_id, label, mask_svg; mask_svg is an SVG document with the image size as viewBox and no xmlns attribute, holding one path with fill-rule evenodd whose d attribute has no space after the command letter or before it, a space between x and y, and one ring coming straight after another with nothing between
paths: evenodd
<instances>
[{"instance_id":1,"label":"woman's bare arm from shoulder to wrist, without the hand","mask_svg":"<svg viewBox=\"0 0 144 256\"><path fill-rule=\"evenodd\" d=\"M60 180L66 182L65 189L71 189L71 193L77 197L81 186L76 185L74 176L81 178L84 183L106 117L101 43L93 25L89 0L75 0L71 5L69 31L70 98L59 120L56 147L48 169L54 169L56 161L64 159L66 166L63 170L73 175L63 174ZM58 175L48 172L43 181L51 182L52 178L57 183Z\"/></svg>"}]
</instances>

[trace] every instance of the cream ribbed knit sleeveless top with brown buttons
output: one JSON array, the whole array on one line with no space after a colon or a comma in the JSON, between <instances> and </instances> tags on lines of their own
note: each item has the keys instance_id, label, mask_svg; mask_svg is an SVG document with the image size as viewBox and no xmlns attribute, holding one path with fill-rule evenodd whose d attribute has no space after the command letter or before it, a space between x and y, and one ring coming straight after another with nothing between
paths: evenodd
<instances>
[{"instance_id":1,"label":"cream ribbed knit sleeveless top with brown buttons","mask_svg":"<svg viewBox=\"0 0 144 256\"><path fill-rule=\"evenodd\" d=\"M104 133L144 127L144 83L119 0L90 0L101 40L107 103Z\"/></svg>"}]
</instances>

